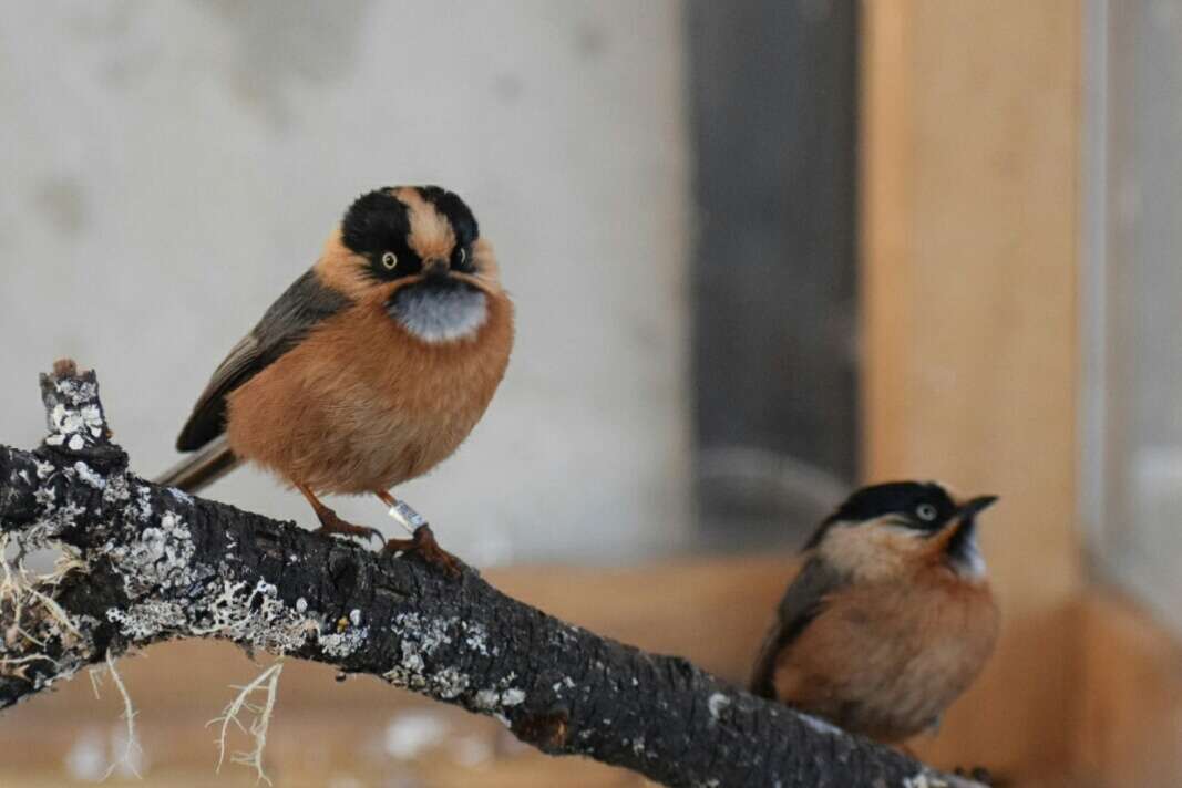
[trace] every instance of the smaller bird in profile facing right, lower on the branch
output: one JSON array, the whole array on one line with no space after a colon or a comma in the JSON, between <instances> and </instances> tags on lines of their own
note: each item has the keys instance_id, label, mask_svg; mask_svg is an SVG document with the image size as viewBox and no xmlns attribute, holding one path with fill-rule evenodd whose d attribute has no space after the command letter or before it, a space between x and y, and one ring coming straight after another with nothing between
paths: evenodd
<instances>
[{"instance_id":1,"label":"smaller bird in profile facing right, lower on the branch","mask_svg":"<svg viewBox=\"0 0 1182 788\"><path fill-rule=\"evenodd\" d=\"M918 481L850 495L801 551L752 693L886 744L936 729L998 640L976 541L996 501Z\"/></svg>"}]
</instances>

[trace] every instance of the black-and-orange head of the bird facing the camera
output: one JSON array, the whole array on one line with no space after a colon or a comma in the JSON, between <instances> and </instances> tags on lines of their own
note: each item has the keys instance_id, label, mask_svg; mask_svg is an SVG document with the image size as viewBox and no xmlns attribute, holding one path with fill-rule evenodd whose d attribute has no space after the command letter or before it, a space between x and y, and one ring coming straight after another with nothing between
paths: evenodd
<instances>
[{"instance_id":1,"label":"black-and-orange head of the bird facing the camera","mask_svg":"<svg viewBox=\"0 0 1182 788\"><path fill-rule=\"evenodd\" d=\"M353 299L379 299L418 339L474 337L501 294L496 259L468 206L435 185L388 187L353 201L317 265Z\"/></svg>"}]
</instances>

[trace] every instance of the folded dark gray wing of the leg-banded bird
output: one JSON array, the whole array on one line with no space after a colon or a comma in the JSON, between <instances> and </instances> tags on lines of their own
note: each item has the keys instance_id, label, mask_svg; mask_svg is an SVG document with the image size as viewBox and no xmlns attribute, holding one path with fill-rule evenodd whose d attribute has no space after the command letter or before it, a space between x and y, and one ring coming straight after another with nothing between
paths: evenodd
<instances>
[{"instance_id":1,"label":"folded dark gray wing of the leg-banded bird","mask_svg":"<svg viewBox=\"0 0 1182 788\"><path fill-rule=\"evenodd\" d=\"M176 438L177 450L196 451L221 435L226 429L226 397L350 302L337 291L322 285L312 269L297 279L214 371Z\"/></svg>"}]
</instances>

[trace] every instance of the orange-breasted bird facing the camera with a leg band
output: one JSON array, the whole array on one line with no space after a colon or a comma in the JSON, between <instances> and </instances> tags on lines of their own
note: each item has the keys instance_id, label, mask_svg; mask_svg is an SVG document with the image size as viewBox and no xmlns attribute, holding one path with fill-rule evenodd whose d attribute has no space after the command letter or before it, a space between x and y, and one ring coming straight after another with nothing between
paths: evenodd
<instances>
[{"instance_id":1,"label":"orange-breasted bird facing the camera with a leg band","mask_svg":"<svg viewBox=\"0 0 1182 788\"><path fill-rule=\"evenodd\" d=\"M362 194L316 263L216 367L176 439L190 456L156 481L195 493L249 462L299 490L320 533L381 539L320 501L374 495L420 526L387 549L454 569L389 490L459 448L505 376L513 338L493 248L459 195Z\"/></svg>"}]
</instances>

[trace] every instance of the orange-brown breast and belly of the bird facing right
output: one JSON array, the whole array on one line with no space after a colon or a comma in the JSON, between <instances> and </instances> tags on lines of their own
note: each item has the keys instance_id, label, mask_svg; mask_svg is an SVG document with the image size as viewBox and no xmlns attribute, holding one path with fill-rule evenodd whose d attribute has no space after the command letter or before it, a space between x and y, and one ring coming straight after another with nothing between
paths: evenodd
<instances>
[{"instance_id":1,"label":"orange-brown breast and belly of the bird facing right","mask_svg":"<svg viewBox=\"0 0 1182 788\"><path fill-rule=\"evenodd\" d=\"M863 582L780 655L777 696L881 741L935 722L993 652L998 610L983 581L926 568L909 582Z\"/></svg>"}]
</instances>

